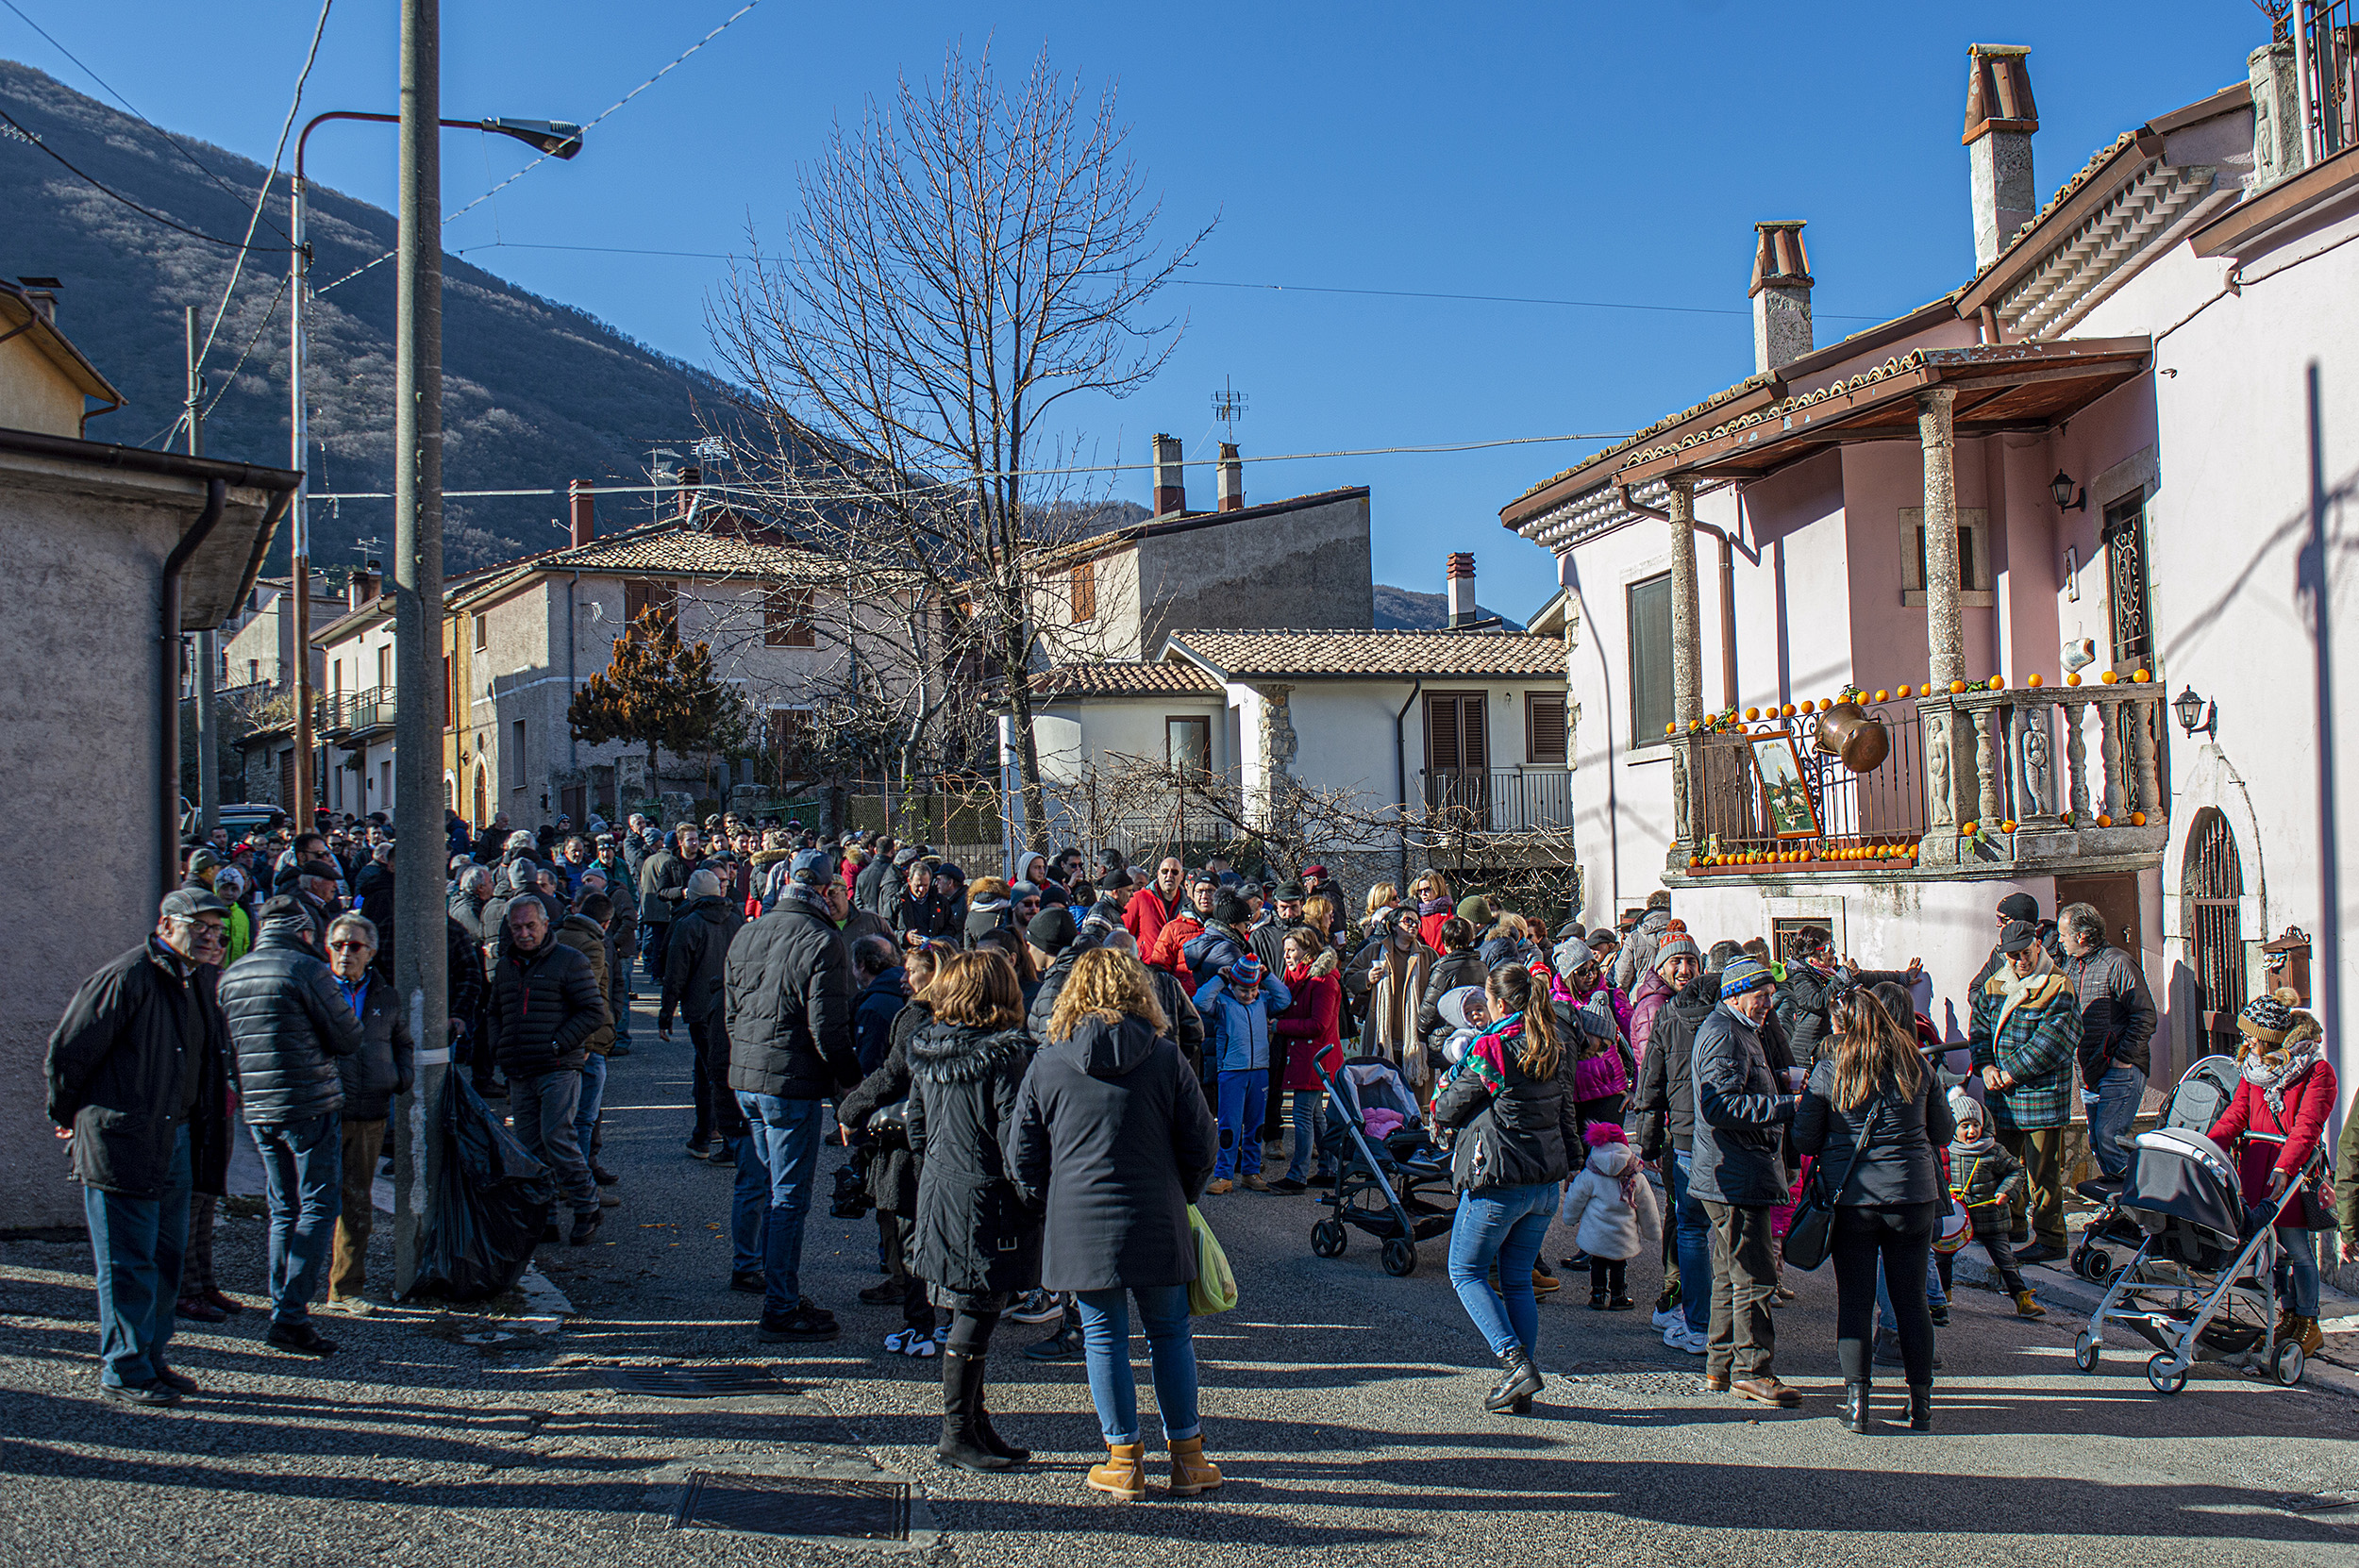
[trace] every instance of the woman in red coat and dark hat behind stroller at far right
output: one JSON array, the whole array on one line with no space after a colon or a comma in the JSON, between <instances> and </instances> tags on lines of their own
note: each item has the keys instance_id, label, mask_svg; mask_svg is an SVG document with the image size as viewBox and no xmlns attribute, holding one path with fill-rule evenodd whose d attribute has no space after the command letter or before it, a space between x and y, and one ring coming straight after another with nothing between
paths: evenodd
<instances>
[{"instance_id":1,"label":"woman in red coat and dark hat behind stroller at far right","mask_svg":"<svg viewBox=\"0 0 2359 1568\"><path fill-rule=\"evenodd\" d=\"M2335 1113L2335 1070L2326 1061L2326 1035L2319 1021L2295 1012L2291 990L2255 997L2236 1014L2243 1033L2239 1063L2243 1078L2227 1115L2210 1129L2210 1141L2236 1160L2248 1205L2274 1205L2286 1184L2302 1174L2326 1120ZM2243 1139L2243 1153L2236 1153ZM2286 1205L2276 1221L2276 1240L2286 1252L2291 1290L2276 1323L2279 1339L2298 1339L2305 1356L2326 1344L2319 1332L2319 1238L2302 1228L2302 1198Z\"/></svg>"}]
</instances>

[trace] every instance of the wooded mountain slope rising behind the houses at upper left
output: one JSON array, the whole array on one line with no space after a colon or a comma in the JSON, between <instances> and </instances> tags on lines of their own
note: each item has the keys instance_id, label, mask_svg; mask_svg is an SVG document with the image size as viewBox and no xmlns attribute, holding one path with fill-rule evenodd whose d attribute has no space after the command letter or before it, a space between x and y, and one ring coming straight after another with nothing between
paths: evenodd
<instances>
[{"instance_id":1,"label":"wooded mountain slope rising behind the houses at upper left","mask_svg":"<svg viewBox=\"0 0 2359 1568\"><path fill-rule=\"evenodd\" d=\"M182 137L236 193L224 191L139 120L17 61L0 61L0 108L139 205L203 233L245 233L262 165ZM394 132L380 130L392 158ZM158 446L179 415L186 380L182 309L196 304L201 325L212 321L236 252L175 233L111 200L5 123L0 212L7 215L0 224L0 274L59 278L57 325L127 398L120 410L90 422L90 439ZM394 217L314 184L304 219L316 295L307 309L311 354L304 377L311 394L311 488L389 490L394 266L370 262L394 248ZM285 224L281 174L255 245L283 245ZM205 422L210 455L288 462L285 264L285 250L248 255L208 358L212 389L226 387ZM446 488L564 488L569 479L644 483L649 448L668 446L686 455L703 422L724 413L727 389L710 375L573 307L443 257ZM602 528L623 526L635 512L644 521L646 507L642 498L599 498ZM561 495L451 500L446 568L458 573L561 542L550 528L561 514ZM359 559L354 540L380 540L370 554L389 549L392 502L316 505L311 533L311 556L321 566L349 566ZM285 568L285 531L271 568Z\"/></svg>"}]
</instances>

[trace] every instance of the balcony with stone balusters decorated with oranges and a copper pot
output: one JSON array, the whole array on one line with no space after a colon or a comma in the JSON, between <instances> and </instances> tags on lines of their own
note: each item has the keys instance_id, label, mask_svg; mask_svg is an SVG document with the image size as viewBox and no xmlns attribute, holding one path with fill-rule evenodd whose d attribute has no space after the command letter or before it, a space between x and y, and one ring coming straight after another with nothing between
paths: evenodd
<instances>
[{"instance_id":1,"label":"balcony with stone balusters decorated with oranges and a copper pot","mask_svg":"<svg viewBox=\"0 0 2359 1568\"><path fill-rule=\"evenodd\" d=\"M2163 851L2158 684L1965 691L1864 710L1890 738L1866 773L1816 752L1814 722L1800 714L1682 736L1673 875L2003 877L2154 863ZM1798 778L1781 745L1762 747L1786 731ZM1776 797L1762 755L1781 773Z\"/></svg>"}]
</instances>

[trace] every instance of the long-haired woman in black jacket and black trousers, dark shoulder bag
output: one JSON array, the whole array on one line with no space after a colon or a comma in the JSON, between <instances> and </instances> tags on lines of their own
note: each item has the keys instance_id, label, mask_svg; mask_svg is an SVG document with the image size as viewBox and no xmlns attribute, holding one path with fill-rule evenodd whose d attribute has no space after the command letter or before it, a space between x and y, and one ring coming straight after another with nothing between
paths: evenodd
<instances>
[{"instance_id":1,"label":"long-haired woman in black jacket and black trousers, dark shoulder bag","mask_svg":"<svg viewBox=\"0 0 2359 1568\"><path fill-rule=\"evenodd\" d=\"M1916 1033L1894 1023L1871 993L1854 990L1835 1004L1833 1035L1835 1049L1809 1070L1795 1108L1793 1146L1816 1155L1812 1179L1835 1200L1842 1419L1852 1431L1868 1429L1868 1330L1880 1261L1908 1370L1908 1424L1932 1431L1932 1311L1923 1280L1946 1210L1934 1151L1956 1137L1958 1122L1918 1054Z\"/></svg>"}]
</instances>

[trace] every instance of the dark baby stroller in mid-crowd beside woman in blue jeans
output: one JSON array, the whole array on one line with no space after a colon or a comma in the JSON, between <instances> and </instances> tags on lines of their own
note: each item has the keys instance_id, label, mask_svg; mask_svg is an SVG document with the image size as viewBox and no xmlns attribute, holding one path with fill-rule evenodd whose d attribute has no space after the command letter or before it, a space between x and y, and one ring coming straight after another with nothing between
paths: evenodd
<instances>
[{"instance_id":1,"label":"dark baby stroller in mid-crowd beside woman in blue jeans","mask_svg":"<svg viewBox=\"0 0 2359 1568\"><path fill-rule=\"evenodd\" d=\"M1427 1188L1448 1191L1448 1155L1425 1137L1418 1096L1382 1056L1345 1061L1321 1078L1328 1127L1352 1141L1352 1155L1335 1177L1335 1191L1319 1200L1335 1212L1312 1226L1312 1252L1342 1257L1345 1226L1356 1226L1385 1243L1385 1273L1415 1273L1418 1243L1451 1228L1453 1207L1427 1198ZM1399 1129L1385 1137L1368 1132L1371 1111L1392 1111L1401 1118Z\"/></svg>"}]
</instances>

